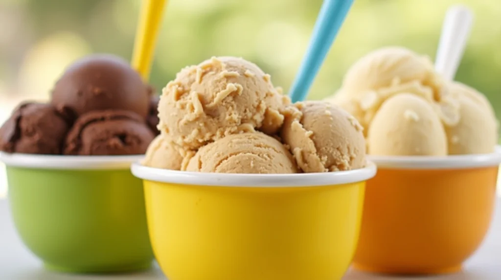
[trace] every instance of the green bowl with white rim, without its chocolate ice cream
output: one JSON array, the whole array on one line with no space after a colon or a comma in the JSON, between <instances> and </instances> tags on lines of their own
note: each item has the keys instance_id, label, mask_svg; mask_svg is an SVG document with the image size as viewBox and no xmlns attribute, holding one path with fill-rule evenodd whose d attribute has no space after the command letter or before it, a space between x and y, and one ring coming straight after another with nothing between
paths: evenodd
<instances>
[{"instance_id":1,"label":"green bowl with white rim, without its chocolate ice cream","mask_svg":"<svg viewBox=\"0 0 501 280\"><path fill-rule=\"evenodd\" d=\"M141 156L0 153L14 225L50 270L112 273L153 260L141 180Z\"/></svg>"}]
</instances>

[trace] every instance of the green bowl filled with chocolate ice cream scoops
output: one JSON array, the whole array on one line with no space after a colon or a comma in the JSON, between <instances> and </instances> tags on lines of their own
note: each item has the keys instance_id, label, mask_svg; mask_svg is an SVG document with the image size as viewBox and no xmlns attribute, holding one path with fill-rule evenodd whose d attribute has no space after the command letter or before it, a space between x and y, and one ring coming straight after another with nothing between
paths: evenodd
<instances>
[{"instance_id":1,"label":"green bowl filled with chocolate ice cream scoops","mask_svg":"<svg viewBox=\"0 0 501 280\"><path fill-rule=\"evenodd\" d=\"M151 265L143 188L129 168L157 134L155 102L126 61L92 55L68 67L50 102L22 103L0 128L13 220L46 268Z\"/></svg>"}]
</instances>

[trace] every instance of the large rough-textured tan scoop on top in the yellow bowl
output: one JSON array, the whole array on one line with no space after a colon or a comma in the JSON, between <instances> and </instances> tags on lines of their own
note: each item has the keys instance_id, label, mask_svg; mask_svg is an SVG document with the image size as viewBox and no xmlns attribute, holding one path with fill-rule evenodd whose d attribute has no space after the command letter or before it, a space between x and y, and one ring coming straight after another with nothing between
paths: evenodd
<instances>
[{"instance_id":1,"label":"large rough-textured tan scoop on top in the yellow bowl","mask_svg":"<svg viewBox=\"0 0 501 280\"><path fill-rule=\"evenodd\" d=\"M159 129L175 143L197 149L239 132L276 133L287 97L270 75L240 58L219 57L181 70L162 91Z\"/></svg>"}]
</instances>

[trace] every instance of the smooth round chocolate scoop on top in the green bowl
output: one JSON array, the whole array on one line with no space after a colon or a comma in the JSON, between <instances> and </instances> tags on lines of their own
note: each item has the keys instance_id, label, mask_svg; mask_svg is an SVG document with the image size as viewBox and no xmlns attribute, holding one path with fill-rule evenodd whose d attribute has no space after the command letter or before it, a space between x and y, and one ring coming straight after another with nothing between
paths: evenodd
<instances>
[{"instance_id":1,"label":"smooth round chocolate scoop on top in the green bowl","mask_svg":"<svg viewBox=\"0 0 501 280\"><path fill-rule=\"evenodd\" d=\"M151 87L129 64L112 55L84 57L68 67L52 91L52 104L78 115L97 110L128 110L146 118Z\"/></svg>"}]
</instances>

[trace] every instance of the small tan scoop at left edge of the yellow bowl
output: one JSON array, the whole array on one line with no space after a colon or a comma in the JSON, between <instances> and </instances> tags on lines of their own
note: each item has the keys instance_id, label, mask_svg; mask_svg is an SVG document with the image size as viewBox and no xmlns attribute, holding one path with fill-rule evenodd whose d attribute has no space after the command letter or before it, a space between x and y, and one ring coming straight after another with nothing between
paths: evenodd
<instances>
[{"instance_id":1,"label":"small tan scoop at left edge of the yellow bowl","mask_svg":"<svg viewBox=\"0 0 501 280\"><path fill-rule=\"evenodd\" d=\"M181 170L183 159L194 152L176 145L168 135L158 135L148 146L143 164L154 168Z\"/></svg>"}]
</instances>

